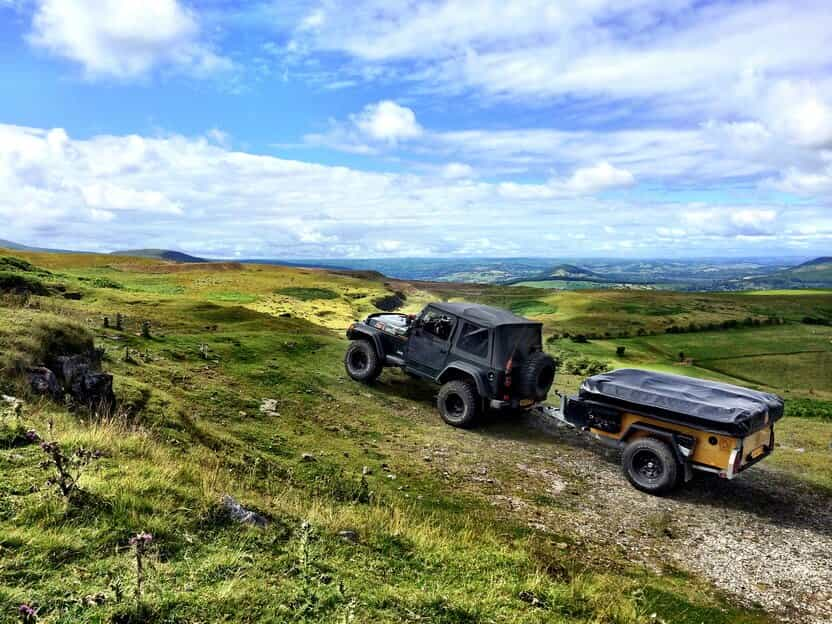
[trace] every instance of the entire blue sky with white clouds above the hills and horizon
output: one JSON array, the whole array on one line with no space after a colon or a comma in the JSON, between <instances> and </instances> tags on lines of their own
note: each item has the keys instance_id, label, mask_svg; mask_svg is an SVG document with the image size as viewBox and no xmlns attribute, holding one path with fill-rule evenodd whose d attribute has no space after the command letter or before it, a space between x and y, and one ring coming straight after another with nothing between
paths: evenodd
<instances>
[{"instance_id":1,"label":"entire blue sky with white clouds above the hills and horizon","mask_svg":"<svg viewBox=\"0 0 832 624\"><path fill-rule=\"evenodd\" d=\"M215 257L832 241L832 11L0 0L0 238Z\"/></svg>"}]
</instances>

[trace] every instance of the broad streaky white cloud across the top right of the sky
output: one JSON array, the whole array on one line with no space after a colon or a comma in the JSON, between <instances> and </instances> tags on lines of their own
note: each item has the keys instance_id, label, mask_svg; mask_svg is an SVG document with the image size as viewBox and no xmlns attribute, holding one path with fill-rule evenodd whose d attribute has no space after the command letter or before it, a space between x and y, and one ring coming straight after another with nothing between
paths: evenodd
<instances>
[{"instance_id":1,"label":"broad streaky white cloud across the top right of the sky","mask_svg":"<svg viewBox=\"0 0 832 624\"><path fill-rule=\"evenodd\" d=\"M817 0L331 0L321 11L332 19L301 33L306 48L361 68L398 65L436 88L497 97L659 98L683 114L742 112L731 100L743 71L822 75L832 53L828 3Z\"/></svg>"}]
</instances>

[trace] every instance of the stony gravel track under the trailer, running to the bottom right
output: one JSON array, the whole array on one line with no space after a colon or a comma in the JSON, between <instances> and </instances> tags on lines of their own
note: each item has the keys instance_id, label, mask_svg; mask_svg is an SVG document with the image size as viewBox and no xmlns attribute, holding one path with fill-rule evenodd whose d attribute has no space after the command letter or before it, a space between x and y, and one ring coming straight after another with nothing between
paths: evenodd
<instances>
[{"instance_id":1,"label":"stony gravel track under the trailer, running to the bottom right","mask_svg":"<svg viewBox=\"0 0 832 624\"><path fill-rule=\"evenodd\" d=\"M531 526L705 576L783 622L832 622L832 499L765 462L657 498L629 485L617 452L544 416L438 438L421 449L436 470Z\"/></svg>"}]
</instances>

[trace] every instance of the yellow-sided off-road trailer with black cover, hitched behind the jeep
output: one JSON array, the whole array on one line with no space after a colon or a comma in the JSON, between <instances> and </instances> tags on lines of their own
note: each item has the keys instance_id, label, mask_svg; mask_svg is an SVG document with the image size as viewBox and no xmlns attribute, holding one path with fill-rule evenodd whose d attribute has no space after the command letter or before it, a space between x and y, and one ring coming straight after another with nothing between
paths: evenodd
<instances>
[{"instance_id":1,"label":"yellow-sided off-road trailer with black cover, hitched behind the jeep","mask_svg":"<svg viewBox=\"0 0 832 624\"><path fill-rule=\"evenodd\" d=\"M622 451L630 483L667 494L693 472L733 479L774 450L783 400L740 386L632 368L584 380L541 412Z\"/></svg>"}]
</instances>

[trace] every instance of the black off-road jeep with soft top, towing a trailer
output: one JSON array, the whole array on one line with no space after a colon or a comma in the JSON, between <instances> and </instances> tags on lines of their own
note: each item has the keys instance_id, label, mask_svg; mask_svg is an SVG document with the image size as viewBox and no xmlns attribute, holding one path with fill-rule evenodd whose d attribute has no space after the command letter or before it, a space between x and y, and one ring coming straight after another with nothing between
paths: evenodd
<instances>
[{"instance_id":1,"label":"black off-road jeep with soft top, towing a trailer","mask_svg":"<svg viewBox=\"0 0 832 624\"><path fill-rule=\"evenodd\" d=\"M454 427L487 407L529 409L546 399L555 362L543 352L542 324L506 310L432 303L418 316L371 314L347 330L347 374L374 381L385 366L442 384L437 406Z\"/></svg>"}]
</instances>

